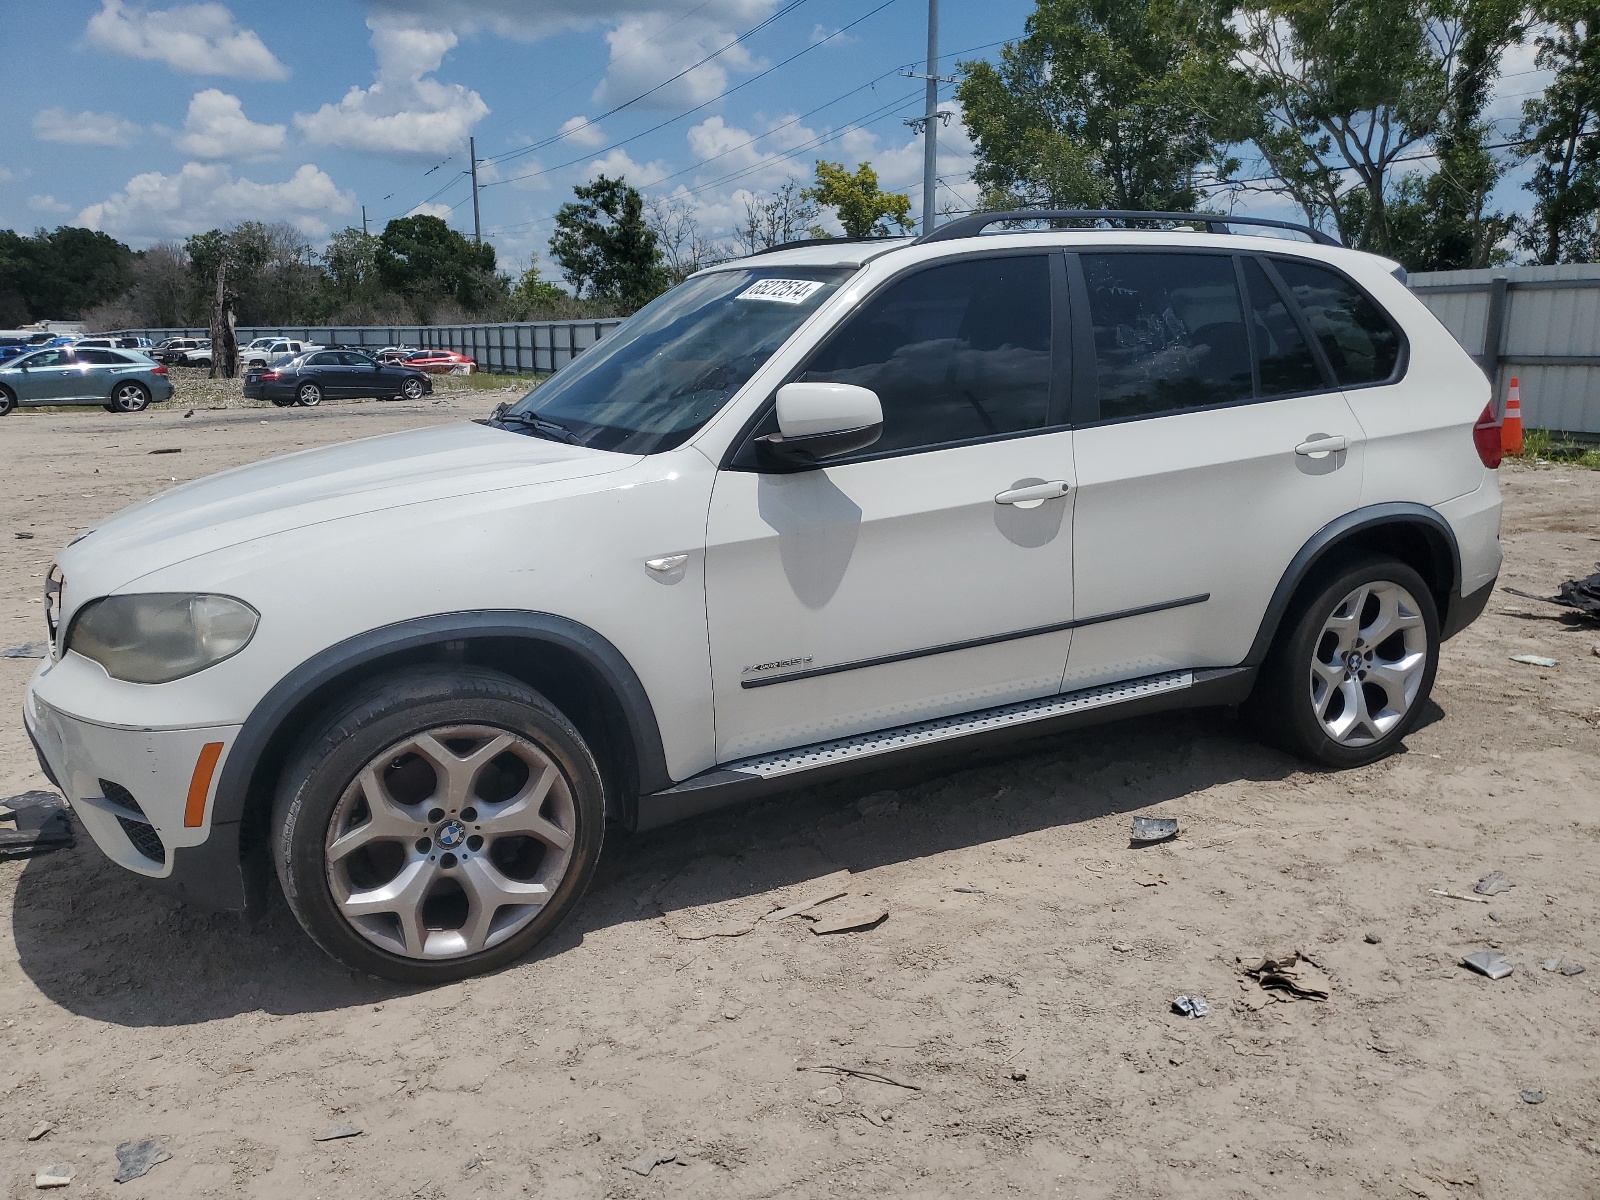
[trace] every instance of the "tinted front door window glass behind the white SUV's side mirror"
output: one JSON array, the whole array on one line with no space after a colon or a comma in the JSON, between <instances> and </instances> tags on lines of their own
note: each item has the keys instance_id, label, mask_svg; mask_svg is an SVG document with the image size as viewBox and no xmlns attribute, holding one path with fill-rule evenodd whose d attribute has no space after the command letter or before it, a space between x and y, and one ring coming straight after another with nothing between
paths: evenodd
<instances>
[{"instance_id":1,"label":"tinted front door window glass behind the white SUV's side mirror","mask_svg":"<svg viewBox=\"0 0 1600 1200\"><path fill-rule=\"evenodd\" d=\"M870 387L872 453L1042 429L1050 414L1050 258L918 270L854 314L802 379Z\"/></svg>"}]
</instances>

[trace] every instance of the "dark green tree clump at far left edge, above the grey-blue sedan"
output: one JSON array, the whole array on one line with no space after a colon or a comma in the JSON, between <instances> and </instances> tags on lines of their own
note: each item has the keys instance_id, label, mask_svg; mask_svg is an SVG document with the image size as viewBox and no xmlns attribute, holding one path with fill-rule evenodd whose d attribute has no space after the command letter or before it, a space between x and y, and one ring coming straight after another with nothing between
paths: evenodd
<instances>
[{"instance_id":1,"label":"dark green tree clump at far left edge, above the grey-blue sedan","mask_svg":"<svg viewBox=\"0 0 1600 1200\"><path fill-rule=\"evenodd\" d=\"M0 320L77 318L122 296L133 283L133 262L128 246L91 229L0 230Z\"/></svg>"}]
</instances>

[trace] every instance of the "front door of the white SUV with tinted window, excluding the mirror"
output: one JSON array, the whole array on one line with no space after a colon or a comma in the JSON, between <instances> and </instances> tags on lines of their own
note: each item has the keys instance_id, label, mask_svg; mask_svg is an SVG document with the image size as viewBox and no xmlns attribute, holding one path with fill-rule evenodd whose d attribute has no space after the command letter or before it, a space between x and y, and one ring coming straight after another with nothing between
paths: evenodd
<instances>
[{"instance_id":1,"label":"front door of the white SUV with tinted window, excluding the mirror","mask_svg":"<svg viewBox=\"0 0 1600 1200\"><path fill-rule=\"evenodd\" d=\"M730 762L1059 690L1072 434L1051 254L946 261L869 298L797 378L870 387L883 435L818 470L736 456L706 590ZM771 414L754 437L776 427Z\"/></svg>"}]
</instances>

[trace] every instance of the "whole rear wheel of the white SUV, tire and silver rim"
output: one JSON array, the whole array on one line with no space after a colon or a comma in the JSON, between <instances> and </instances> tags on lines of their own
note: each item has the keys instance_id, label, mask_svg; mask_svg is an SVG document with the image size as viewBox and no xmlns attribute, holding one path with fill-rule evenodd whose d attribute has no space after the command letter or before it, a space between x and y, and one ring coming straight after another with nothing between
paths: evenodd
<instances>
[{"instance_id":1,"label":"whole rear wheel of the white SUV, tire and silver rim","mask_svg":"<svg viewBox=\"0 0 1600 1200\"><path fill-rule=\"evenodd\" d=\"M1270 741L1325 766L1392 754L1422 715L1438 669L1438 608L1405 563L1357 563L1290 608L1245 704Z\"/></svg>"}]
</instances>

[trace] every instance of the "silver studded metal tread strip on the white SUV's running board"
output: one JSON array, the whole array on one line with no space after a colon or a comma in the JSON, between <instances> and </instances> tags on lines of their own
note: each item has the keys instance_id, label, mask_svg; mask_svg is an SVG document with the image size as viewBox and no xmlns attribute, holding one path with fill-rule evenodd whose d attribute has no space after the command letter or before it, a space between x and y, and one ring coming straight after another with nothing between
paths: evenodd
<instances>
[{"instance_id":1,"label":"silver studded metal tread strip on the white SUV's running board","mask_svg":"<svg viewBox=\"0 0 1600 1200\"><path fill-rule=\"evenodd\" d=\"M933 742L966 738L973 733L987 733L1003 726L1024 725L1027 722L1048 720L1050 717L1066 717L1072 712L1102 709L1109 704L1160 696L1168 691L1182 691L1194 685L1194 674L1189 670L1171 670L1165 675L1146 675L1144 678L1125 683L1106 683L1083 691L1067 691L1059 696L1043 696L1034 701L1003 704L998 709L981 709L963 712L957 717L939 717L931 722L915 725L898 725L893 730L877 733L858 733L853 738L838 738L830 742L816 742L794 750L776 750L760 754L754 758L741 758L728 763L723 770L741 774L754 774L760 779L776 779L798 771L810 771L816 766L832 766L848 763L854 758L870 758L878 754L906 750L912 746L931 746Z\"/></svg>"}]
</instances>

